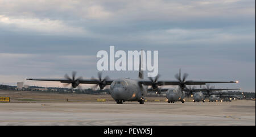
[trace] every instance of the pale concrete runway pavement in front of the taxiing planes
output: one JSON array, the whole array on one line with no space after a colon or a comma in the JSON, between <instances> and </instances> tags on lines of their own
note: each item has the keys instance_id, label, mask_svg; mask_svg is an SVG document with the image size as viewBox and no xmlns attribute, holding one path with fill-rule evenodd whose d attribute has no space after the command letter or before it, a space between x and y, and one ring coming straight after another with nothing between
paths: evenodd
<instances>
[{"instance_id":1,"label":"pale concrete runway pavement in front of the taxiing planes","mask_svg":"<svg viewBox=\"0 0 256 137\"><path fill-rule=\"evenodd\" d=\"M255 101L0 103L0 125L254 125Z\"/></svg>"}]
</instances>

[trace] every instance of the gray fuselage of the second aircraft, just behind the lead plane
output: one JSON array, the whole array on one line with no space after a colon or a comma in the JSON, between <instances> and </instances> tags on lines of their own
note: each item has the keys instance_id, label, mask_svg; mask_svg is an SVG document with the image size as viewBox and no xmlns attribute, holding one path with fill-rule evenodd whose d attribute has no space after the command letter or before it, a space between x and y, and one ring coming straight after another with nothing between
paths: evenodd
<instances>
[{"instance_id":1,"label":"gray fuselage of the second aircraft, just behind the lead plane","mask_svg":"<svg viewBox=\"0 0 256 137\"><path fill-rule=\"evenodd\" d=\"M176 102L181 101L184 102L184 92L181 91L180 88L177 89L168 89L168 92L166 93L166 98L168 99L168 102Z\"/></svg>"}]
</instances>

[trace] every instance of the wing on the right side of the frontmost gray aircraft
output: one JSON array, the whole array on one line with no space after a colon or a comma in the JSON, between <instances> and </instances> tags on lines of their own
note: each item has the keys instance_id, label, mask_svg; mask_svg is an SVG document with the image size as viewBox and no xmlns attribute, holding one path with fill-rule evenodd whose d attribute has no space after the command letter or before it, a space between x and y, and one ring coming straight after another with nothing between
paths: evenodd
<instances>
[{"instance_id":1,"label":"wing on the right side of the frontmost gray aircraft","mask_svg":"<svg viewBox=\"0 0 256 137\"><path fill-rule=\"evenodd\" d=\"M143 85L150 86L152 84L149 80L139 80L139 82ZM185 81L185 85L205 85L205 84L213 84L213 83L238 83L238 81ZM179 85L179 81L158 81L157 85Z\"/></svg>"}]
</instances>

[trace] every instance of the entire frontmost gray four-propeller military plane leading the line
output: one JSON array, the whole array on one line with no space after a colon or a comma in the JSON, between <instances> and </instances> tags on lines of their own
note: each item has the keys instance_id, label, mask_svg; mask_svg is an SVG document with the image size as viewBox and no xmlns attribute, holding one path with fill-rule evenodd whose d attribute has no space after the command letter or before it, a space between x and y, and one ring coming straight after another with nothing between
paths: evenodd
<instances>
[{"instance_id":1,"label":"entire frontmost gray four-propeller military plane leading the line","mask_svg":"<svg viewBox=\"0 0 256 137\"><path fill-rule=\"evenodd\" d=\"M159 86L163 85L179 85L181 89L186 85L205 85L207 83L237 83L237 81L158 81L159 75L153 80L143 80L141 56L139 57L139 78L118 78L111 80L108 76L102 79L101 73L98 73L98 78L75 78L76 73L73 72L72 78L65 74L63 79L34 79L28 78L27 80L34 81L59 81L64 84L71 84L72 88L76 88L79 84L96 84L100 89L104 89L106 85L110 85L110 95L115 102L123 103L125 101L138 101L140 104L144 103L144 95L147 93L148 86L152 86L152 90L158 91Z\"/></svg>"}]
</instances>

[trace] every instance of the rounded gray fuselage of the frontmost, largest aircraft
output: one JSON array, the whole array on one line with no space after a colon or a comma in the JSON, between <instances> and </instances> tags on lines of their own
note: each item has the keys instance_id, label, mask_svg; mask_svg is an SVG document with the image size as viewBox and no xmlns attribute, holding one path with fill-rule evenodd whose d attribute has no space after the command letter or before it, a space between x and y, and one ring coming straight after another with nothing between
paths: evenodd
<instances>
[{"instance_id":1,"label":"rounded gray fuselage of the frontmost, largest aircraft","mask_svg":"<svg viewBox=\"0 0 256 137\"><path fill-rule=\"evenodd\" d=\"M137 80L119 78L110 85L110 95L115 101L140 101L143 99L145 87L139 86Z\"/></svg>"}]
</instances>

